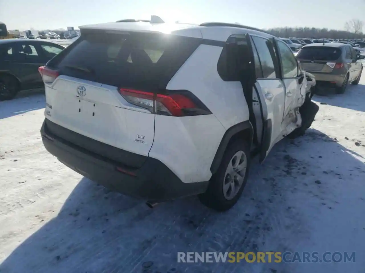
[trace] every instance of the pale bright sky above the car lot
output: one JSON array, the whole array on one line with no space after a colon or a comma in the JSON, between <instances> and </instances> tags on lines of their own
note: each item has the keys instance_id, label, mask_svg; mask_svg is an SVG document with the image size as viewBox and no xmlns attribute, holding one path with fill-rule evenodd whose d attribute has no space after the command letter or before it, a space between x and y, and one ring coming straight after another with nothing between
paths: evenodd
<instances>
[{"instance_id":1,"label":"pale bright sky above the car lot","mask_svg":"<svg viewBox=\"0 0 365 273\"><path fill-rule=\"evenodd\" d=\"M347 20L365 21L365 0L351 5L343 0L0 0L0 21L9 30L78 28L151 15L165 22L344 29Z\"/></svg>"}]
</instances>

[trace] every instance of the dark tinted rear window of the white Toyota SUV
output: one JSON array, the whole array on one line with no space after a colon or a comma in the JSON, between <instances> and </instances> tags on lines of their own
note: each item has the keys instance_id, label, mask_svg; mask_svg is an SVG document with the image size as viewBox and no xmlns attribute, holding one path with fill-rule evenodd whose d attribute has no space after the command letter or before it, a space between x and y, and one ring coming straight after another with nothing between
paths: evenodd
<instances>
[{"instance_id":1,"label":"dark tinted rear window of the white Toyota SUV","mask_svg":"<svg viewBox=\"0 0 365 273\"><path fill-rule=\"evenodd\" d=\"M47 65L60 74L118 87L165 88L200 39L151 33L82 30Z\"/></svg>"}]
</instances>

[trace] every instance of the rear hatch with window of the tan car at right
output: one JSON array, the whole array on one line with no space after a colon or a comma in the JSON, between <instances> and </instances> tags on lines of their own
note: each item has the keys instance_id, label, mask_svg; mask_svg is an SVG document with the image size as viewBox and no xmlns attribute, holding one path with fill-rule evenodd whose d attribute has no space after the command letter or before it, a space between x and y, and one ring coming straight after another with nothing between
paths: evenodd
<instances>
[{"instance_id":1,"label":"rear hatch with window of the tan car at right","mask_svg":"<svg viewBox=\"0 0 365 273\"><path fill-rule=\"evenodd\" d=\"M303 47L296 55L296 58L300 61L303 70L331 73L341 54L341 48L337 47Z\"/></svg>"}]
</instances>

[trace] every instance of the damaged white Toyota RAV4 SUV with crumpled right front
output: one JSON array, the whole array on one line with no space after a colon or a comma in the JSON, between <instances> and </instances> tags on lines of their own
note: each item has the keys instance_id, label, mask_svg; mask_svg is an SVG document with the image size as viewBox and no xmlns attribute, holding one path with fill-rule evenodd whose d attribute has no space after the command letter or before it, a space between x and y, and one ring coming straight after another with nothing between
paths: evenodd
<instances>
[{"instance_id":1,"label":"damaged white Toyota RAV4 SUV with crumpled right front","mask_svg":"<svg viewBox=\"0 0 365 273\"><path fill-rule=\"evenodd\" d=\"M314 79L290 48L224 23L80 27L40 67L46 149L78 173L150 203L199 194L227 210L250 158L303 134L318 111ZM293 132L294 131L294 132Z\"/></svg>"}]
</instances>

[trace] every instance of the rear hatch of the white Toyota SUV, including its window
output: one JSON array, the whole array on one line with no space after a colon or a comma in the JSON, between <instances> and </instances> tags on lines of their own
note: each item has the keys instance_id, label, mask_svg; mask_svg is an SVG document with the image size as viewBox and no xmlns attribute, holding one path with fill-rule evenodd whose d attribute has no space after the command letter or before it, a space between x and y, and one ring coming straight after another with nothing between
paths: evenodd
<instances>
[{"instance_id":1,"label":"rear hatch of the white Toyota SUV, including its window","mask_svg":"<svg viewBox=\"0 0 365 273\"><path fill-rule=\"evenodd\" d=\"M147 156L155 118L153 96L147 95L166 88L199 42L161 33L81 29L77 41L40 68L46 118L81 136ZM128 99L130 91L139 96ZM66 134L62 138L76 143ZM77 141L99 151L95 144Z\"/></svg>"}]
</instances>

